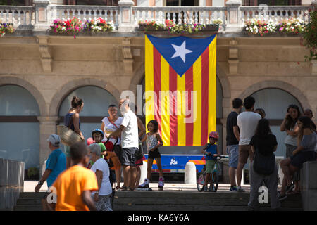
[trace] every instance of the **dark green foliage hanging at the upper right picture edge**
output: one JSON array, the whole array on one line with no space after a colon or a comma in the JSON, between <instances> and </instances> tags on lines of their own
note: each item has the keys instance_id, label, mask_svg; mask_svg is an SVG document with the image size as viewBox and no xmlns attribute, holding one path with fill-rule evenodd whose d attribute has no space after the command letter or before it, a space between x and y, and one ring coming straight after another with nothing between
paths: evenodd
<instances>
[{"instance_id":1,"label":"dark green foliage hanging at the upper right picture edge","mask_svg":"<svg viewBox=\"0 0 317 225\"><path fill-rule=\"evenodd\" d=\"M309 49L309 56L305 56L305 60L317 60L317 11L316 8L309 10L311 20L304 27L302 44Z\"/></svg>"}]
</instances>

